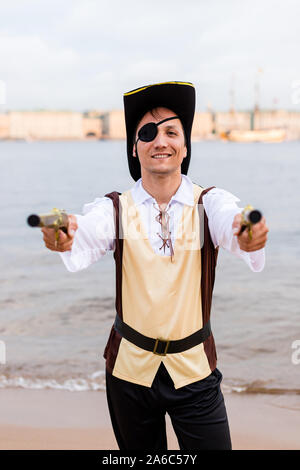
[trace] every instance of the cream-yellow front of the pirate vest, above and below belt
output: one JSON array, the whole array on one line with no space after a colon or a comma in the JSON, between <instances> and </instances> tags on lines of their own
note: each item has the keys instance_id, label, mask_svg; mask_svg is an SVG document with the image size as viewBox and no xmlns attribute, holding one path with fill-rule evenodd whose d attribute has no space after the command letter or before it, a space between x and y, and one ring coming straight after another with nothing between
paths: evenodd
<instances>
[{"instance_id":1,"label":"cream-yellow front of the pirate vest, above and below belt","mask_svg":"<svg viewBox=\"0 0 300 470\"><path fill-rule=\"evenodd\" d=\"M193 189L194 206L184 206L172 261L169 256L154 252L131 191L119 197L123 228L123 321L151 338L182 339L203 326L198 212L202 188L194 184ZM203 343L181 353L158 356L119 338L112 374L151 387L162 361L175 388L211 373Z\"/></svg>"}]
</instances>

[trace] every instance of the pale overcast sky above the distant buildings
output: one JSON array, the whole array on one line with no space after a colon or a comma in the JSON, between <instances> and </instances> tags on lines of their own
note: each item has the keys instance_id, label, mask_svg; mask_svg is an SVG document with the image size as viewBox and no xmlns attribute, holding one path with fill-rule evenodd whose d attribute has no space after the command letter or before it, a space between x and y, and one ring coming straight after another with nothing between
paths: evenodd
<instances>
[{"instance_id":1,"label":"pale overcast sky above the distant buildings","mask_svg":"<svg viewBox=\"0 0 300 470\"><path fill-rule=\"evenodd\" d=\"M299 0L0 0L0 111L120 109L169 80L195 84L199 111L231 88L252 108L257 80L262 108L299 111L299 18Z\"/></svg>"}]
</instances>

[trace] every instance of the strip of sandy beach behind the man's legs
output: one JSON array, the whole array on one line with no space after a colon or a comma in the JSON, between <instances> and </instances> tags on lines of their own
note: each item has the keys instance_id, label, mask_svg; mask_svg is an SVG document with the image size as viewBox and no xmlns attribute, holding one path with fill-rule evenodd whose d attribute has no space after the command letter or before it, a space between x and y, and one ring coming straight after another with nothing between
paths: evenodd
<instances>
[{"instance_id":1,"label":"strip of sandy beach behind the man's legs","mask_svg":"<svg viewBox=\"0 0 300 470\"><path fill-rule=\"evenodd\" d=\"M224 396L234 450L300 449L300 410L286 398ZM105 392L2 389L0 397L1 450L118 450ZM168 417L167 429L178 450Z\"/></svg>"}]
</instances>

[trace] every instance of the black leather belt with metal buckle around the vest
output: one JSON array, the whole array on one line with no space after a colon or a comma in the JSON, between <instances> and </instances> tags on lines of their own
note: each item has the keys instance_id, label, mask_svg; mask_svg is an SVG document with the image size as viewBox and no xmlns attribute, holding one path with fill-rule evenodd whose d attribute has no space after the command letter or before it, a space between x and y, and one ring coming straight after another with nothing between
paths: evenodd
<instances>
[{"instance_id":1,"label":"black leather belt with metal buckle around the vest","mask_svg":"<svg viewBox=\"0 0 300 470\"><path fill-rule=\"evenodd\" d=\"M139 348L153 352L158 356L186 351L187 349L203 343L211 335L210 321L208 321L201 330L196 331L186 338L170 341L161 338L149 338L124 323L118 314L116 315L114 328L123 338Z\"/></svg>"}]
</instances>

